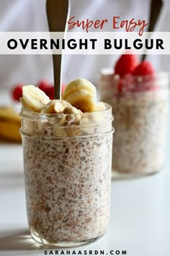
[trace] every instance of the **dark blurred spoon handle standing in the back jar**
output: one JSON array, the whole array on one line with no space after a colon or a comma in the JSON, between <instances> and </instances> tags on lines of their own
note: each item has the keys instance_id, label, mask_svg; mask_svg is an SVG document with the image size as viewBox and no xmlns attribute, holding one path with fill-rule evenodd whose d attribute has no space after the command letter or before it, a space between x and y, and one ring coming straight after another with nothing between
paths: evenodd
<instances>
[{"instance_id":1,"label":"dark blurred spoon handle standing in the back jar","mask_svg":"<svg viewBox=\"0 0 170 256\"><path fill-rule=\"evenodd\" d=\"M164 4L163 0L152 0L151 1L148 32L153 32L156 22L158 20L158 16L163 7L163 4ZM142 61L144 61L145 59L146 59L146 54L143 54Z\"/></svg>"}]
</instances>

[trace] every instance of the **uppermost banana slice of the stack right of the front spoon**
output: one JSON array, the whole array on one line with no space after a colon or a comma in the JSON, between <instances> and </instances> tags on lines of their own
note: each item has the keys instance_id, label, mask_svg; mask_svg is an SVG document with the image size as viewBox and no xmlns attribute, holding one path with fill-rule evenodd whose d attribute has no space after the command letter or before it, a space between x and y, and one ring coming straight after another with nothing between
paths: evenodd
<instances>
[{"instance_id":1,"label":"uppermost banana slice of the stack right of the front spoon","mask_svg":"<svg viewBox=\"0 0 170 256\"><path fill-rule=\"evenodd\" d=\"M97 96L97 89L95 86L89 82L86 79L79 78L77 80L73 80L72 82L69 82L68 85L66 86L62 99L66 100L68 95L71 95L72 93L76 92L77 90L87 90L89 93L92 93L94 98Z\"/></svg>"}]
</instances>

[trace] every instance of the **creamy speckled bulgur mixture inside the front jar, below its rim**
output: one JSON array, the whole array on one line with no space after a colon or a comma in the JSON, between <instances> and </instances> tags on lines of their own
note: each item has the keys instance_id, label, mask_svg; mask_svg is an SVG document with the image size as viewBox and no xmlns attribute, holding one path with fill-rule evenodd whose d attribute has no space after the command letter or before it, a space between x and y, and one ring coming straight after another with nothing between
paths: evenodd
<instances>
[{"instance_id":1,"label":"creamy speckled bulgur mixture inside the front jar, below its rim","mask_svg":"<svg viewBox=\"0 0 170 256\"><path fill-rule=\"evenodd\" d=\"M109 222L112 138L24 137L30 229L44 239L101 236Z\"/></svg>"}]
</instances>

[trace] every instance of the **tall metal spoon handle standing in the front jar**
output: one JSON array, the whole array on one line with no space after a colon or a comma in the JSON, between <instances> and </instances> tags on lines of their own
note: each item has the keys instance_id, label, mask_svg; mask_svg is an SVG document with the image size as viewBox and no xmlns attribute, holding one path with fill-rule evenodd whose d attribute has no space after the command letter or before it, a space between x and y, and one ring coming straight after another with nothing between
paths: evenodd
<instances>
[{"instance_id":1,"label":"tall metal spoon handle standing in the front jar","mask_svg":"<svg viewBox=\"0 0 170 256\"><path fill-rule=\"evenodd\" d=\"M46 11L50 32L64 32L64 35L66 35L67 20L70 14L70 0L47 0ZM62 54L53 54L55 99L61 99L62 66Z\"/></svg>"}]
</instances>

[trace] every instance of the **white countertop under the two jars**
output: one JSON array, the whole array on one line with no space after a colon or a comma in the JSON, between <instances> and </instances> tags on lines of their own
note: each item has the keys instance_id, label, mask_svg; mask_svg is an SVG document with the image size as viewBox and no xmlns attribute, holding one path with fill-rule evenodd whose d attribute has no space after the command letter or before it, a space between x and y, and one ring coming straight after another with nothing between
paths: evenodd
<instances>
[{"instance_id":1,"label":"white countertop under the two jars","mask_svg":"<svg viewBox=\"0 0 170 256\"><path fill-rule=\"evenodd\" d=\"M170 147L169 147L170 148ZM34 242L27 228L22 145L0 143L0 255L44 255L50 249ZM112 182L107 234L81 250L126 250L128 256L170 255L170 159L159 173ZM53 248L53 254L55 255ZM74 248L70 249L72 255ZM49 253L48 253L49 255ZM59 252L58 252L59 255Z\"/></svg>"}]
</instances>

